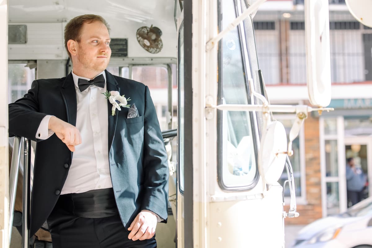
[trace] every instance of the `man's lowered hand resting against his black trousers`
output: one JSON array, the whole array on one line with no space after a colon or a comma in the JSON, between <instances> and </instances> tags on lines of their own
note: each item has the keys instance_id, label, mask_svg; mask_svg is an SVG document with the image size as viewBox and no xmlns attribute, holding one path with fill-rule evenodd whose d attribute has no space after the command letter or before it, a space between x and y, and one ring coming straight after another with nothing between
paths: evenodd
<instances>
[{"instance_id":1,"label":"man's lowered hand resting against his black trousers","mask_svg":"<svg viewBox=\"0 0 372 248\"><path fill-rule=\"evenodd\" d=\"M141 211L129 226L128 239L133 241L150 239L155 235L157 217L153 212Z\"/></svg>"}]
</instances>

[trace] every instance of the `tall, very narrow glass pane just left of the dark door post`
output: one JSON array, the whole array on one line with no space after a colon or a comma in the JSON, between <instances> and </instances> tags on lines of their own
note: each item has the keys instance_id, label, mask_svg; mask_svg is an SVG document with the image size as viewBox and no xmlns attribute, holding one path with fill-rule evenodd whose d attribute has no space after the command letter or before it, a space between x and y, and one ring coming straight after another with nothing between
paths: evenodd
<instances>
[{"instance_id":1,"label":"tall, very narrow glass pane just left of the dark door post","mask_svg":"<svg viewBox=\"0 0 372 248\"><path fill-rule=\"evenodd\" d=\"M179 93L178 93L178 135L179 135L179 157L178 157L178 164L179 164L179 188L180 191L183 192L185 189L185 164L184 164L184 149L185 149L185 111L184 111L184 90L185 90L185 80L184 80L184 54L183 54L183 24L181 25L179 31L179 54L178 54L178 78L179 78Z\"/></svg>"}]
</instances>

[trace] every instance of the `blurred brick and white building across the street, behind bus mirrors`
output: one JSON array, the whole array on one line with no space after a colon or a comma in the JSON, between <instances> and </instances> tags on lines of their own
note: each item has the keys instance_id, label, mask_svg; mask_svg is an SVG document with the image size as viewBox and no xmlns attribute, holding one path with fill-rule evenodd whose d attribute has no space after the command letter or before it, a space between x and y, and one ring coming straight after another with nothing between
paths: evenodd
<instances>
[{"instance_id":1,"label":"blurred brick and white building across the street, behind bus mirrors","mask_svg":"<svg viewBox=\"0 0 372 248\"><path fill-rule=\"evenodd\" d=\"M357 22L344 0L329 1L333 112L312 114L292 146L298 218L307 224L347 209L346 158L372 178L372 29ZM304 0L268 0L254 16L257 54L274 104L306 99ZM287 131L294 115L274 115ZM286 172L280 182L286 179ZM369 196L371 186L365 190ZM285 189L289 205L289 189ZM286 206L288 208L288 206Z\"/></svg>"}]
</instances>

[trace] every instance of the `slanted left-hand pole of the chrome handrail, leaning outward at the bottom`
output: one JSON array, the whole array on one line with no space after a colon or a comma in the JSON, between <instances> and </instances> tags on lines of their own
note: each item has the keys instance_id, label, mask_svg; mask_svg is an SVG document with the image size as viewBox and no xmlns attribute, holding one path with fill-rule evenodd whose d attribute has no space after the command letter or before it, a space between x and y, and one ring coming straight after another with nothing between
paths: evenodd
<instances>
[{"instance_id":1,"label":"slanted left-hand pole of the chrome handrail, leaning outward at the bottom","mask_svg":"<svg viewBox=\"0 0 372 248\"><path fill-rule=\"evenodd\" d=\"M22 150L22 138L15 136L13 152L12 152L12 165L10 166L9 176L9 243L12 238L12 227L13 227L13 216L14 216L14 204L16 201L17 182L18 182L18 171L19 162L21 160Z\"/></svg>"}]
</instances>

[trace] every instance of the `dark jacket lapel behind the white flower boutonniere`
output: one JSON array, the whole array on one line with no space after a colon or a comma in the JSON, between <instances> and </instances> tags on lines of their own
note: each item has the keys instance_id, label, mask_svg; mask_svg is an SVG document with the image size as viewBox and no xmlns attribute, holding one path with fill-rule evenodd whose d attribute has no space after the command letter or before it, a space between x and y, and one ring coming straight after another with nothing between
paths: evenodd
<instances>
[{"instance_id":1,"label":"dark jacket lapel behind the white flower boutonniere","mask_svg":"<svg viewBox=\"0 0 372 248\"><path fill-rule=\"evenodd\" d=\"M109 73L108 71L106 71L106 88L108 91L119 91L120 92L120 88L118 86L118 82L116 82L115 78L113 77L113 75L111 73ZM110 153L110 149L111 149L111 146L112 146L112 141L114 139L114 135L115 135L115 130L116 130L116 123L118 122L118 114L119 114L119 110L115 110L115 115L112 116L111 115L111 112L112 112L112 104L108 101L107 103L107 106L108 106L108 124L109 124L109 132L108 132L108 139L109 139L109 153Z\"/></svg>"}]
</instances>

